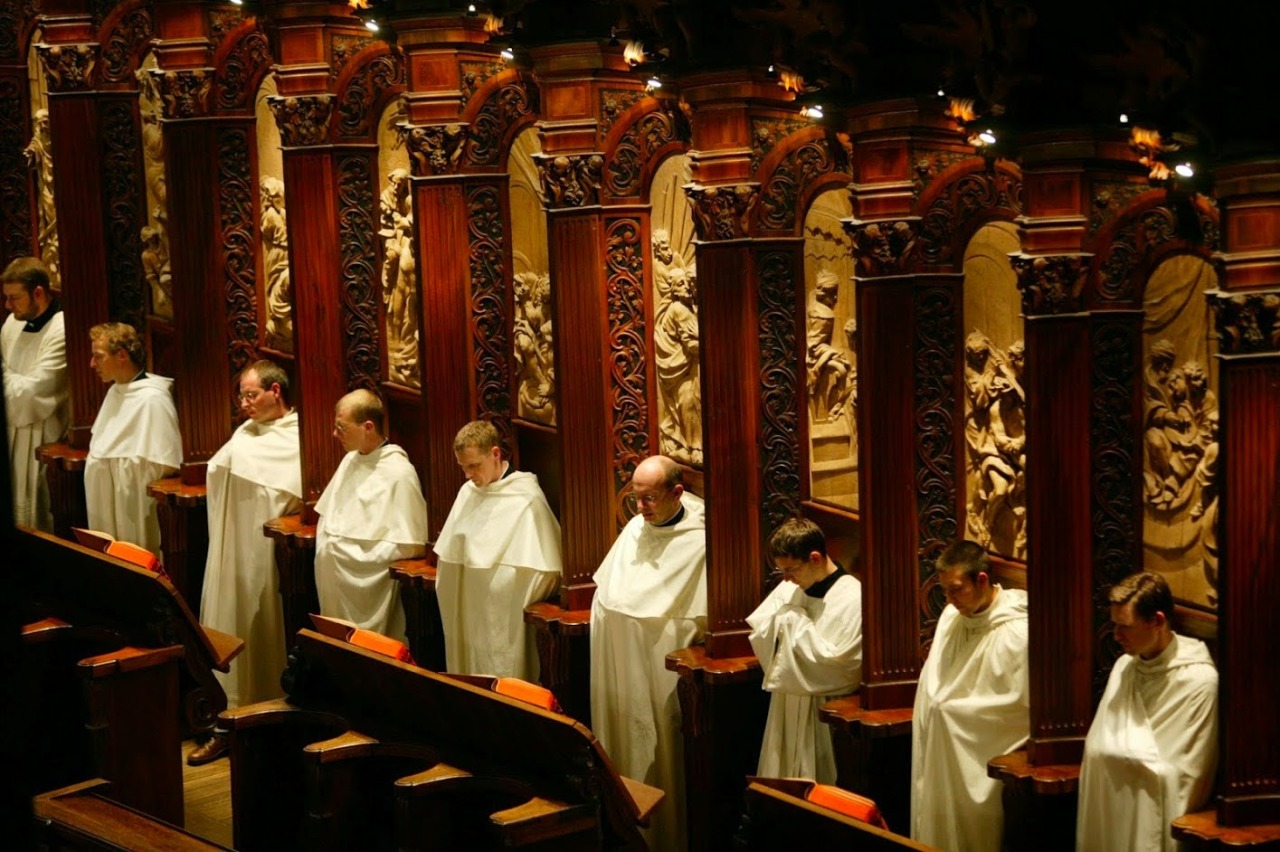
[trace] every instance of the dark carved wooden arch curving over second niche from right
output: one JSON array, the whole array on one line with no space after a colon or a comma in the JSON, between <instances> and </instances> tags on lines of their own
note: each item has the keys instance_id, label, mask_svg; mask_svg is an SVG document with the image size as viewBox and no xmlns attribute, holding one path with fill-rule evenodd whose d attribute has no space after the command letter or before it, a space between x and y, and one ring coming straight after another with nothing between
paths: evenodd
<instances>
[{"instance_id":1,"label":"dark carved wooden arch curving over second niche from right","mask_svg":"<svg viewBox=\"0 0 1280 852\"><path fill-rule=\"evenodd\" d=\"M988 219L1012 220L1021 214L1023 182L1002 168L979 169L948 182L920 219L916 251L928 265L956 264L956 252L968 242L961 228L973 229Z\"/></svg>"}]
</instances>

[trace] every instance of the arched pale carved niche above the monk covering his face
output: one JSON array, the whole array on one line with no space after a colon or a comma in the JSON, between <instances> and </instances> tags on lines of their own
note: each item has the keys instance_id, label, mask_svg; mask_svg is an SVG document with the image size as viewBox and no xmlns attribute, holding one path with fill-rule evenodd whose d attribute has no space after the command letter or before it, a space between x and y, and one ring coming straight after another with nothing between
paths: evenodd
<instances>
[{"instance_id":1,"label":"arched pale carved niche above the monk covering his face","mask_svg":"<svg viewBox=\"0 0 1280 852\"><path fill-rule=\"evenodd\" d=\"M858 510L858 298L841 224L849 191L823 192L804 220L809 496Z\"/></svg>"}]
</instances>

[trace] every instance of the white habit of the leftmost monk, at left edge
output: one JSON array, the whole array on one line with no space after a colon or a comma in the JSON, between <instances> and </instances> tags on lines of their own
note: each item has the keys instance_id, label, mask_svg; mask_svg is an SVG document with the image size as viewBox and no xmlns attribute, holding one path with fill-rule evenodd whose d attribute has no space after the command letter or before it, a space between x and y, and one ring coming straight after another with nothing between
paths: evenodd
<instances>
[{"instance_id":1,"label":"white habit of the leftmost monk, at left edge","mask_svg":"<svg viewBox=\"0 0 1280 852\"><path fill-rule=\"evenodd\" d=\"M36 448L59 440L67 431L67 333L60 311L38 331L23 331L27 325L10 313L0 327L13 519L51 531L49 484L36 461Z\"/></svg>"}]
</instances>

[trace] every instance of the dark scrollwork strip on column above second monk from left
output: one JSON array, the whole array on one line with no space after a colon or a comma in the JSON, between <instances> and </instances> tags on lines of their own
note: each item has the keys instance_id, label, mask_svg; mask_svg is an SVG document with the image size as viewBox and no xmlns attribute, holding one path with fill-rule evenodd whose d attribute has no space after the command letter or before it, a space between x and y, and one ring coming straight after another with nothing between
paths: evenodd
<instances>
[{"instance_id":1,"label":"dark scrollwork strip on column above second monk from left","mask_svg":"<svg viewBox=\"0 0 1280 852\"><path fill-rule=\"evenodd\" d=\"M142 147L131 99L102 100L102 191L106 205L108 279L114 319L143 327L146 296L142 279Z\"/></svg>"}]
</instances>

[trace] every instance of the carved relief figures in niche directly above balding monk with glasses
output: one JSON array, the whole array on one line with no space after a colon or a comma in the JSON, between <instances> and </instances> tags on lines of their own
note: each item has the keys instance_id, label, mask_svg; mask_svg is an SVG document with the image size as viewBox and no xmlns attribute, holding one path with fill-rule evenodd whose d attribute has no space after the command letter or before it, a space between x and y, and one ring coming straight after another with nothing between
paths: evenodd
<instances>
[{"instance_id":1,"label":"carved relief figures in niche directly above balding monk with glasses","mask_svg":"<svg viewBox=\"0 0 1280 852\"><path fill-rule=\"evenodd\" d=\"M658 372L658 432L662 452L677 462L703 463L703 404L699 384L698 266L655 229L653 354Z\"/></svg>"}]
</instances>

